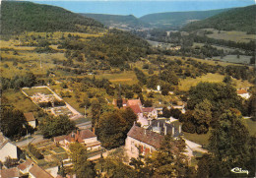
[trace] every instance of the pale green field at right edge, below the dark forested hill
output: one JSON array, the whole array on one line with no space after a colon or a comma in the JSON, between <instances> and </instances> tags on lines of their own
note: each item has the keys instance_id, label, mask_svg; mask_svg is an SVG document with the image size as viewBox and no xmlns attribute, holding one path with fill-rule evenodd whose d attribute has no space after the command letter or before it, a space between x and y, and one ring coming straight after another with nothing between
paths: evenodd
<instances>
[{"instance_id":1,"label":"pale green field at right edge, below the dark forested hill","mask_svg":"<svg viewBox=\"0 0 256 178\"><path fill-rule=\"evenodd\" d=\"M249 42L250 40L256 39L255 34L246 34L246 31L221 30L219 33L219 30L213 30L213 29L207 29L207 30L214 32L213 34L207 34L207 36L215 39L231 40L235 42Z\"/></svg>"}]
</instances>

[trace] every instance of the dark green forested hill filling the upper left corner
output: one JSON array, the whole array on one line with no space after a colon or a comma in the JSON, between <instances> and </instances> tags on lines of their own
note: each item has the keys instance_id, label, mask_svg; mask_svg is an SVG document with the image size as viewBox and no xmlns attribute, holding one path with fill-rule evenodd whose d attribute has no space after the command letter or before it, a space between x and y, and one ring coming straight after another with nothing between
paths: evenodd
<instances>
[{"instance_id":1,"label":"dark green forested hill filling the upper left corner","mask_svg":"<svg viewBox=\"0 0 256 178\"><path fill-rule=\"evenodd\" d=\"M1 33L21 31L84 31L87 27L102 27L93 19L65 9L32 2L2 1Z\"/></svg>"}]
</instances>

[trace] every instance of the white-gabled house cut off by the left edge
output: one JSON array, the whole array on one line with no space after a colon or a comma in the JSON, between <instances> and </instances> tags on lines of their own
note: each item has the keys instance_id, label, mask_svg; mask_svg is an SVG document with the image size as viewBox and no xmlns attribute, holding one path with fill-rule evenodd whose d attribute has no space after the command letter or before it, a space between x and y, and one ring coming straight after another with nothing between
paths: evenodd
<instances>
[{"instance_id":1,"label":"white-gabled house cut off by the left edge","mask_svg":"<svg viewBox=\"0 0 256 178\"><path fill-rule=\"evenodd\" d=\"M22 150L12 144L9 139L4 137L3 133L0 132L0 161L4 162L7 157L13 159L20 159Z\"/></svg>"}]
</instances>

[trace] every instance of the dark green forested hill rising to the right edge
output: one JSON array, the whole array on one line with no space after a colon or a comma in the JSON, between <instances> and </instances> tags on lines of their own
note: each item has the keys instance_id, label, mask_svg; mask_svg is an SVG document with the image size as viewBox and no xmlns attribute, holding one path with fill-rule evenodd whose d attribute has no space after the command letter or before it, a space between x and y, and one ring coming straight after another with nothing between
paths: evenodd
<instances>
[{"instance_id":1,"label":"dark green forested hill rising to the right edge","mask_svg":"<svg viewBox=\"0 0 256 178\"><path fill-rule=\"evenodd\" d=\"M183 30L216 29L216 30L242 30L249 33L256 32L256 5L235 8L209 19L194 22Z\"/></svg>"}]
</instances>

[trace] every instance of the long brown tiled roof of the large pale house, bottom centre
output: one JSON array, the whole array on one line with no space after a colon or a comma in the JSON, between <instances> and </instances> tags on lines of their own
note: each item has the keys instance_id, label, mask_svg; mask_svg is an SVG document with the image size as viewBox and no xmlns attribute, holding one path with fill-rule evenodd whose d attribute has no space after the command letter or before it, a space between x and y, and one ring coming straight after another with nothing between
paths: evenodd
<instances>
[{"instance_id":1,"label":"long brown tiled roof of the large pale house, bottom centre","mask_svg":"<svg viewBox=\"0 0 256 178\"><path fill-rule=\"evenodd\" d=\"M127 136L153 146L154 148L160 148L160 143L163 140L163 136L160 134L138 126L133 126Z\"/></svg>"}]
</instances>

